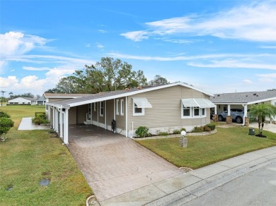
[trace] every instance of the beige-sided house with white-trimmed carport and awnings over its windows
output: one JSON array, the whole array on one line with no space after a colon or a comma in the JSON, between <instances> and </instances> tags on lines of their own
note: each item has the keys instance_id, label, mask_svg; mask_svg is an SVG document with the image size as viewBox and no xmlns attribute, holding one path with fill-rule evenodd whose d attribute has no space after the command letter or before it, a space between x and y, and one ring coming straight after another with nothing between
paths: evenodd
<instances>
[{"instance_id":1,"label":"beige-sided house with white-trimmed carport and awnings over its windows","mask_svg":"<svg viewBox=\"0 0 276 206\"><path fill-rule=\"evenodd\" d=\"M59 94L56 94L59 95ZM47 96L47 95L46 95ZM45 97L46 97L45 96ZM86 97L46 103L53 128L68 143L68 125L86 123L134 136L139 126L153 134L210 123L211 93L185 83L103 92Z\"/></svg>"}]
</instances>

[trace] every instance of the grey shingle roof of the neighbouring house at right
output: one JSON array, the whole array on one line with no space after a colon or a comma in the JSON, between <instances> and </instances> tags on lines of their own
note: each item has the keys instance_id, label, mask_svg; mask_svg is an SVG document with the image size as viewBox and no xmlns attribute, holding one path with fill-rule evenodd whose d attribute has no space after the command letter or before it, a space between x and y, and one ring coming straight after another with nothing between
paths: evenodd
<instances>
[{"instance_id":1,"label":"grey shingle roof of the neighbouring house at right","mask_svg":"<svg viewBox=\"0 0 276 206\"><path fill-rule=\"evenodd\" d=\"M224 93L210 97L210 100L215 104L255 104L272 99L276 99L276 91Z\"/></svg>"}]
</instances>

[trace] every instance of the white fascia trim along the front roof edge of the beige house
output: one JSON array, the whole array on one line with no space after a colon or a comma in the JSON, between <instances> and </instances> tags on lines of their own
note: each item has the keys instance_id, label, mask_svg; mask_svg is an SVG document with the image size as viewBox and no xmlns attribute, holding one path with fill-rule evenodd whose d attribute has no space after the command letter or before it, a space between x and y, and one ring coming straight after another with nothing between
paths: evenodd
<instances>
[{"instance_id":1,"label":"white fascia trim along the front roof edge of the beige house","mask_svg":"<svg viewBox=\"0 0 276 206\"><path fill-rule=\"evenodd\" d=\"M199 92L205 93L205 95L214 96L210 92L205 92L205 91L197 89L197 88L195 88L191 85L186 85L184 83L173 83L173 84L169 84L169 85L162 85L162 86L159 86L159 87L153 87L153 88L138 90L138 91L134 91L134 92L127 92L127 93L120 94L120 95L113 95L113 96L110 96L110 97L102 97L102 98L98 98L98 99L86 100L84 102L74 102L74 103L71 103L71 104L68 104L68 105L70 105L70 107L76 107L76 106L83 105L83 104L89 104L89 103L93 103L93 102L100 102L100 101L105 101L105 100L109 100L109 99L117 99L117 98L121 98L121 97L137 95L137 94L144 93L144 92L160 90L160 89L163 89L163 88L173 87L173 86L178 86L178 85L183 86L183 87L188 87L188 88L193 89L193 90L197 90Z\"/></svg>"}]
</instances>

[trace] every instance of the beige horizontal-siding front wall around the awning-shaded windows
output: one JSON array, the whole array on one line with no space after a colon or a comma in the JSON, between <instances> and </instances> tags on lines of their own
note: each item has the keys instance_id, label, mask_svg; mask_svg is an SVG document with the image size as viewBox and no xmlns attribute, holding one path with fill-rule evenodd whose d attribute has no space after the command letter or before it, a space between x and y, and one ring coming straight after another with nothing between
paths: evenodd
<instances>
[{"instance_id":1,"label":"beige horizontal-siding front wall around the awning-shaded windows","mask_svg":"<svg viewBox=\"0 0 276 206\"><path fill-rule=\"evenodd\" d=\"M145 108L143 116L134 116L132 97L146 97L152 108ZM202 126L209 123L209 109L206 109L206 117L196 119L181 118L181 99L185 98L209 99L209 96L182 86L167 87L130 96L128 101L128 131L132 131L132 122L134 130L139 126L146 126L159 131L173 131L173 129L182 127L189 130L189 128L194 126Z\"/></svg>"}]
</instances>

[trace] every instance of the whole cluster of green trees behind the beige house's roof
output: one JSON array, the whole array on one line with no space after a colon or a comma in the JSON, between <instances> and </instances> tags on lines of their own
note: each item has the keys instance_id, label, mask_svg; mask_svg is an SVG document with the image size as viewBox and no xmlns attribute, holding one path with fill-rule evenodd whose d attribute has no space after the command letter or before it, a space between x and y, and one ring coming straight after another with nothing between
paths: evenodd
<instances>
[{"instance_id":1,"label":"whole cluster of green trees behind the beige house's roof","mask_svg":"<svg viewBox=\"0 0 276 206\"><path fill-rule=\"evenodd\" d=\"M147 82L144 72L132 71L132 66L120 59L103 57L91 66L85 65L81 71L62 78L56 87L45 92L50 93L88 93L124 90L129 87L155 86L168 84L166 78L156 75L154 80Z\"/></svg>"}]
</instances>

